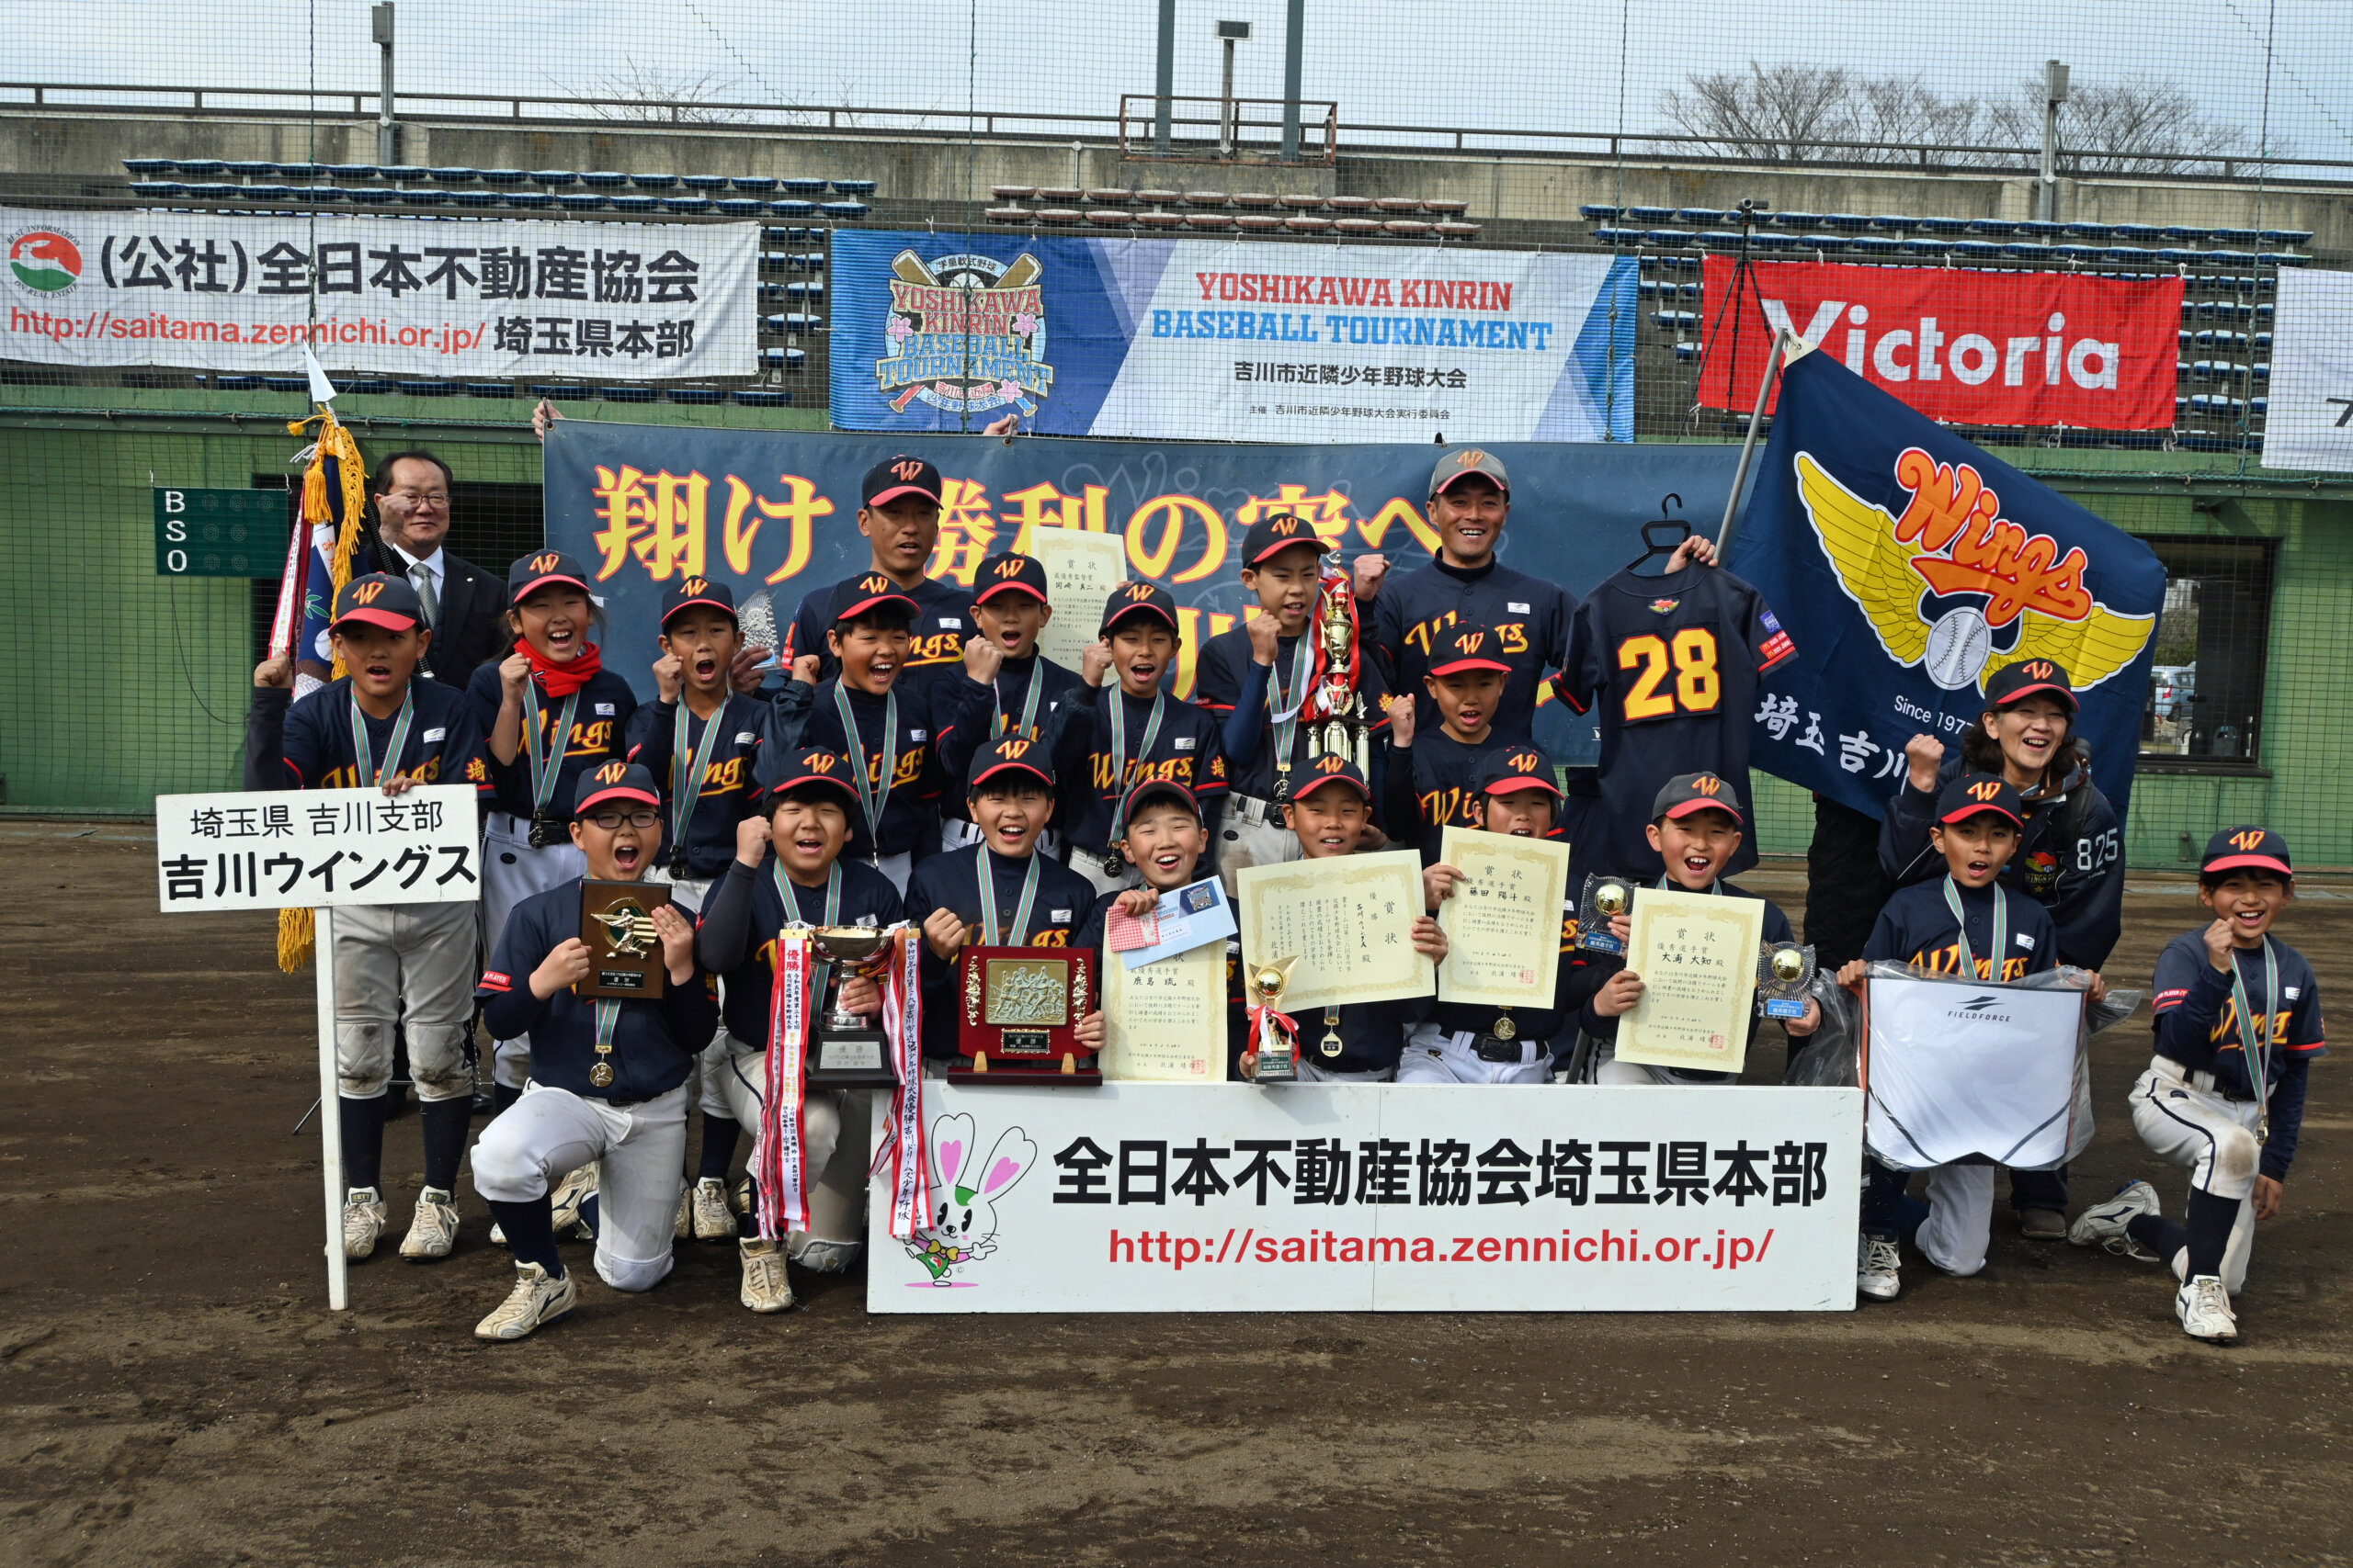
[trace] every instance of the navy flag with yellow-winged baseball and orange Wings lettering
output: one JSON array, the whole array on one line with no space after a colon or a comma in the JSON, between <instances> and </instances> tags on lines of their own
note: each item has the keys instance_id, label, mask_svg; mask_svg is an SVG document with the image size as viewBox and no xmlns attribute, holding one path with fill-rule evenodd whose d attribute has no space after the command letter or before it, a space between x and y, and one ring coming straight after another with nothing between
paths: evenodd
<instances>
[{"instance_id":1,"label":"navy flag with yellow-winged baseball and orange Wings lettering","mask_svg":"<svg viewBox=\"0 0 2353 1568\"><path fill-rule=\"evenodd\" d=\"M2141 541L1972 447L1831 355L1800 355L1727 569L1809 654L1767 675L1758 764L1880 816L1904 743L1953 745L1986 682L2045 658L2118 816L2132 790L2165 569Z\"/></svg>"}]
</instances>

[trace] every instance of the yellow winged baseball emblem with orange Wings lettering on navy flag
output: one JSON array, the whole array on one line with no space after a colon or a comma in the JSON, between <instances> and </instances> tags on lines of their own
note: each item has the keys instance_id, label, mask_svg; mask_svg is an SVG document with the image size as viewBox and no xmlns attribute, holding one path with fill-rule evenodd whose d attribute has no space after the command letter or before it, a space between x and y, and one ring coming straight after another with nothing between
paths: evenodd
<instances>
[{"instance_id":1,"label":"yellow winged baseball emblem with orange Wings lettering on navy flag","mask_svg":"<svg viewBox=\"0 0 2353 1568\"><path fill-rule=\"evenodd\" d=\"M1798 498L1840 588L1871 621L1899 665L1920 665L1946 691L1986 689L1998 670L2049 658L2075 689L2129 665L2158 630L2155 616L2125 616L2085 588L2080 548L2059 555L2049 534L2028 534L2000 515L2000 496L1967 463L1939 463L1920 447L1897 458L1911 491L1901 517L1840 484L1800 451ZM1934 623L1925 595L1960 597ZM1995 637L2012 632L2009 646Z\"/></svg>"}]
</instances>

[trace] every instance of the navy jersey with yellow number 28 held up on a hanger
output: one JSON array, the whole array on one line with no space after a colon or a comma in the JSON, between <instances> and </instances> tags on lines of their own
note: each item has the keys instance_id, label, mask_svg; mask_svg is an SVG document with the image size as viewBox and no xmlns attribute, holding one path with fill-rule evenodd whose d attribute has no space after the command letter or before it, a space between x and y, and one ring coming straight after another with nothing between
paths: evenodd
<instances>
[{"instance_id":1,"label":"navy jersey with yellow number 28 held up on a hanger","mask_svg":"<svg viewBox=\"0 0 2353 1568\"><path fill-rule=\"evenodd\" d=\"M1666 576L1619 571L1577 607L1569 658L1553 689L1600 722L1605 870L1657 879L1666 865L1642 832L1675 773L1720 773L1744 802L1758 677L1798 649L1765 597L1720 567ZM1758 863L1755 827L1727 872Z\"/></svg>"}]
</instances>

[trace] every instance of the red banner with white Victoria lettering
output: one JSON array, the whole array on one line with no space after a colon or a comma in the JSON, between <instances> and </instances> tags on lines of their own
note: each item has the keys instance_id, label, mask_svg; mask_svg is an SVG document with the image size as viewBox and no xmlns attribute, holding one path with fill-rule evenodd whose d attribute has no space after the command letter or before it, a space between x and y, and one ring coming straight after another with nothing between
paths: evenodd
<instances>
[{"instance_id":1,"label":"red banner with white Victoria lettering","mask_svg":"<svg viewBox=\"0 0 2353 1568\"><path fill-rule=\"evenodd\" d=\"M1732 256L1701 270L1708 360L1699 402L1746 409L1774 331L1953 425L2169 430L2181 277L1758 261L1737 315Z\"/></svg>"}]
</instances>

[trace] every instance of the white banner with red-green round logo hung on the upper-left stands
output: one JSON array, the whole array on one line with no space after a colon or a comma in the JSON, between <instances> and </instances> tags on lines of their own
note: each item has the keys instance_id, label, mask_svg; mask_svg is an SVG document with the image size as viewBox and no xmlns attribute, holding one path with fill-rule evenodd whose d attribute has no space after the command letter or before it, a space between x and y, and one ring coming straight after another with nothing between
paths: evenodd
<instances>
[{"instance_id":1,"label":"white banner with red-green round logo hung on the upper-left stands","mask_svg":"<svg viewBox=\"0 0 2353 1568\"><path fill-rule=\"evenodd\" d=\"M758 223L0 214L0 357L673 381L758 369ZM311 273L318 320L311 320Z\"/></svg>"}]
</instances>

